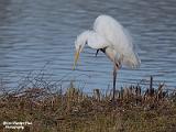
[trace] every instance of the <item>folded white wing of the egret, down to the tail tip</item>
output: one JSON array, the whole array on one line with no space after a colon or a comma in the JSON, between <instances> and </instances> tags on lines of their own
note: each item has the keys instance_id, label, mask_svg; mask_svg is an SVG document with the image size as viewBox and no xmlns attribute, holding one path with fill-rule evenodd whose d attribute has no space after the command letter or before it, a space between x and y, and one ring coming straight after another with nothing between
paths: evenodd
<instances>
[{"instance_id":1,"label":"folded white wing of the egret, down to the tail tip","mask_svg":"<svg viewBox=\"0 0 176 132\"><path fill-rule=\"evenodd\" d=\"M134 51L131 35L117 20L109 15L99 15L94 23L94 30L111 43L124 65L130 67L140 65L141 61Z\"/></svg>"}]
</instances>

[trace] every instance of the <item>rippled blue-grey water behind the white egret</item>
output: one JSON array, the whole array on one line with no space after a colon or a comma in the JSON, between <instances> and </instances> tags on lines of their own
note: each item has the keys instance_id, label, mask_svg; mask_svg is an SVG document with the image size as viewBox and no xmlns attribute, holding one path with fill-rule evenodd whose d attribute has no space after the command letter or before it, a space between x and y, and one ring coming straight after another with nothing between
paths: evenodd
<instances>
[{"instance_id":1,"label":"rippled blue-grey water behind the white egret","mask_svg":"<svg viewBox=\"0 0 176 132\"><path fill-rule=\"evenodd\" d=\"M3 0L0 2L0 78L9 87L29 73L42 70L63 84L76 79L82 88L112 85L112 65L102 53L86 47L77 70L72 72L74 41L91 29L99 14L110 14L131 32L139 46L139 69L122 68L118 87L154 76L176 87L175 0ZM67 76L66 76L67 75Z\"/></svg>"}]
</instances>

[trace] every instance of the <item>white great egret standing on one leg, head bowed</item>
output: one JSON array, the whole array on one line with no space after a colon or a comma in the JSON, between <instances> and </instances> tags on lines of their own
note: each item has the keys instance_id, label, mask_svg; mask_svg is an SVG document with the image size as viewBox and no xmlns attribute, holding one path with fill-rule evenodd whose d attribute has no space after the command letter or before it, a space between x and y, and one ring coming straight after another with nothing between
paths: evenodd
<instances>
[{"instance_id":1,"label":"white great egret standing on one leg, head bowed","mask_svg":"<svg viewBox=\"0 0 176 132\"><path fill-rule=\"evenodd\" d=\"M79 54L86 44L97 50L96 56L101 51L113 63L112 100L114 100L117 70L121 68L121 65L134 68L141 64L138 54L134 52L130 34L112 16L99 15L94 23L94 29L82 32L75 41L76 53L73 69L75 69Z\"/></svg>"}]
</instances>

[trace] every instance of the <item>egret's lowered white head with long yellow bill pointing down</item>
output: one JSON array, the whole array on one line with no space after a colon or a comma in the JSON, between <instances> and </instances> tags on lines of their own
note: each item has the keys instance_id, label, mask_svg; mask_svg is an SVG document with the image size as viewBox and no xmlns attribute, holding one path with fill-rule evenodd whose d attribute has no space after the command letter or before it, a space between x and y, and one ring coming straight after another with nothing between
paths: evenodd
<instances>
[{"instance_id":1,"label":"egret's lowered white head with long yellow bill pointing down","mask_svg":"<svg viewBox=\"0 0 176 132\"><path fill-rule=\"evenodd\" d=\"M75 67L76 67L76 64L78 62L80 52L82 52L85 45L87 44L87 40L89 37L89 33L90 33L90 31L82 32L81 34L79 34L77 36L77 38L75 41L76 52L75 52L75 62L74 62L73 69L75 69Z\"/></svg>"}]
</instances>

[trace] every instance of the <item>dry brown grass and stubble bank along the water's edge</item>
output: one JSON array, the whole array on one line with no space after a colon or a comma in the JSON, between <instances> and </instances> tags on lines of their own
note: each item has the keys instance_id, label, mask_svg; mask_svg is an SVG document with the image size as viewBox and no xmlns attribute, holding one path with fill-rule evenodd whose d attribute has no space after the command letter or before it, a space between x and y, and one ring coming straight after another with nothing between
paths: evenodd
<instances>
[{"instance_id":1,"label":"dry brown grass and stubble bank along the water's edge","mask_svg":"<svg viewBox=\"0 0 176 132\"><path fill-rule=\"evenodd\" d=\"M140 86L121 88L116 94L95 89L84 94L72 82L65 92L52 92L46 82L0 96L0 131L3 121L30 121L24 132L174 132L176 92L164 85L142 90ZM38 85L40 84L40 85ZM36 87L37 86L37 87ZM47 86L47 87L46 87Z\"/></svg>"}]
</instances>

